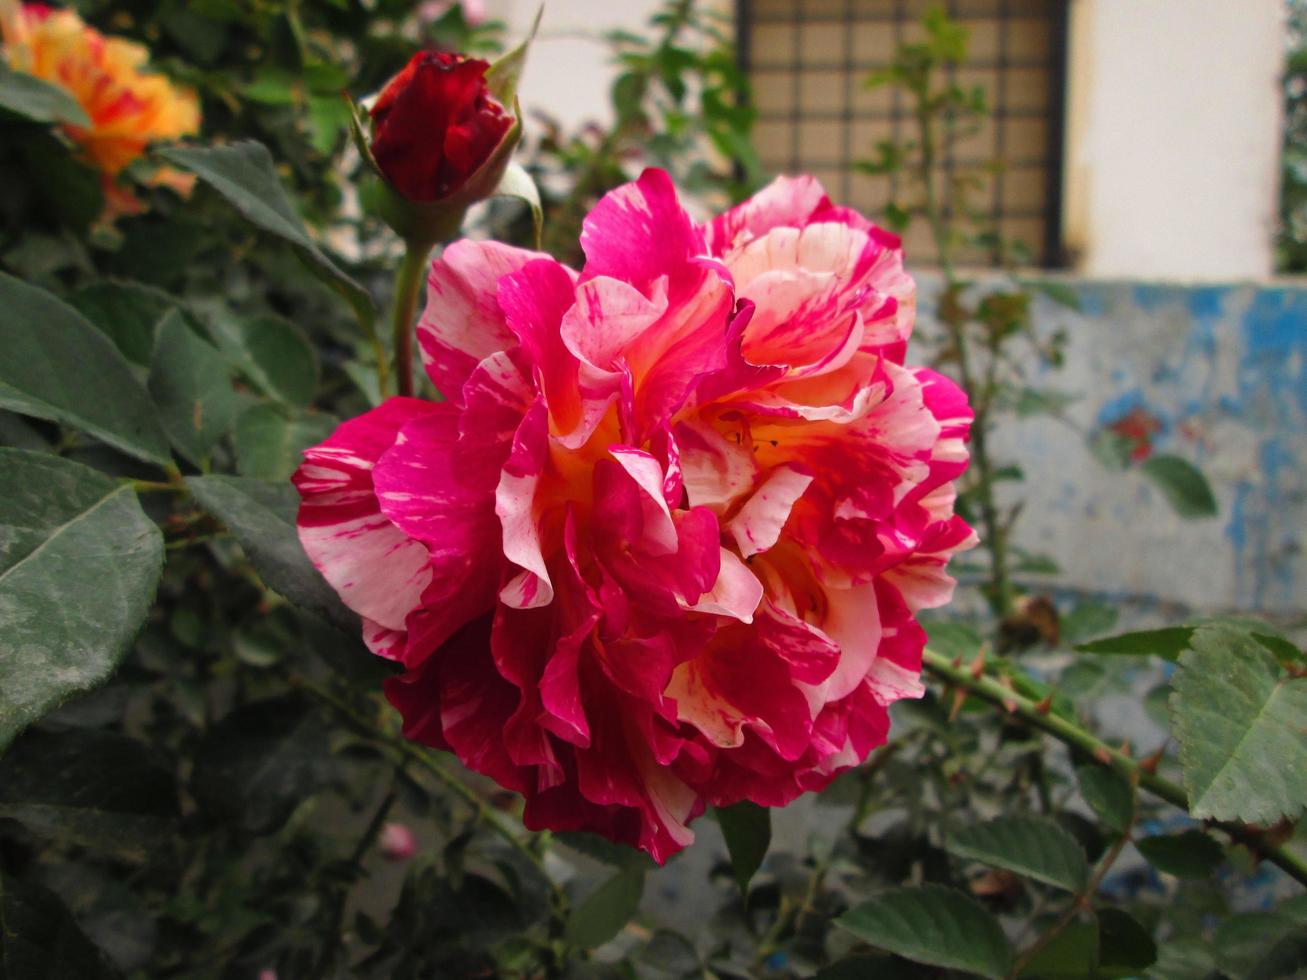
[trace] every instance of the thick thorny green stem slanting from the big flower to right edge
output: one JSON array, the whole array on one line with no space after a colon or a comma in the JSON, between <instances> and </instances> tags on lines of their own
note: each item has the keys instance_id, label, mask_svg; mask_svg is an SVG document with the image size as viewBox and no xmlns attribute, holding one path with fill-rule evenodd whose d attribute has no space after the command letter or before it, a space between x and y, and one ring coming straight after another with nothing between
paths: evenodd
<instances>
[{"instance_id":1,"label":"thick thorny green stem slanting from the big flower to right edge","mask_svg":"<svg viewBox=\"0 0 1307 980\"><path fill-rule=\"evenodd\" d=\"M970 668L963 666L961 662L954 662L932 649L927 649L923 653L923 666L936 677L963 689L968 694L974 694L982 700L996 704L1012 715L1017 715L1034 728L1051 734L1057 741L1081 750L1099 764L1116 770L1133 785L1146 789L1159 800L1165 800L1185 813L1189 811L1189 798L1184 792L1184 787L1157 775L1138 759L1127 755L1119 749L1114 749L1074 721L1044 710L1040 704L1017 694L1010 687L1005 687L992 677L983 673L978 676ZM1298 883L1307 886L1307 857L1302 857L1280 844L1272 843L1260 831L1242 823L1214 822L1214 826L1270 861Z\"/></svg>"}]
</instances>

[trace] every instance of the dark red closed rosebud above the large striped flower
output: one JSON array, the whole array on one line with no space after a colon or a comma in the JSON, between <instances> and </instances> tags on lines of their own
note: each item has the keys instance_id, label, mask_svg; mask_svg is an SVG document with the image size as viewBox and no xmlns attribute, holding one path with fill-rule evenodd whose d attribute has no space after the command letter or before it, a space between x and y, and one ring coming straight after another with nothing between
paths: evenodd
<instances>
[{"instance_id":1,"label":"dark red closed rosebud above the large striped flower","mask_svg":"<svg viewBox=\"0 0 1307 980\"><path fill-rule=\"evenodd\" d=\"M404 197L452 197L503 142L514 116L486 89L489 68L465 55L420 51L376 99L372 158Z\"/></svg>"}]
</instances>

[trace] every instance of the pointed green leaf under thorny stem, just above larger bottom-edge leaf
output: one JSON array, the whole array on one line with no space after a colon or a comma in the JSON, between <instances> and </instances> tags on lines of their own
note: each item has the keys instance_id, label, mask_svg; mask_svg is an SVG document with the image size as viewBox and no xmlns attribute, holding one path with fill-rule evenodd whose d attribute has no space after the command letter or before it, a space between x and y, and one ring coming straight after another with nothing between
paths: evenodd
<instances>
[{"instance_id":1,"label":"pointed green leaf under thorny stem, just above larger bottom-edge leaf","mask_svg":"<svg viewBox=\"0 0 1307 980\"><path fill-rule=\"evenodd\" d=\"M1089 862L1076 838L1042 817L999 817L950 834L945 847L959 857L1005 868L1067 891L1089 879Z\"/></svg>"}]
</instances>

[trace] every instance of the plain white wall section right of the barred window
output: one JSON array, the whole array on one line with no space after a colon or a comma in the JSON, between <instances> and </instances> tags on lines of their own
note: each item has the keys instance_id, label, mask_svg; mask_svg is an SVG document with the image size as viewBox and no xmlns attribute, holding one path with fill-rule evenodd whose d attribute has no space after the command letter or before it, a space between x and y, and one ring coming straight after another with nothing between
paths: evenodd
<instances>
[{"instance_id":1,"label":"plain white wall section right of the barred window","mask_svg":"<svg viewBox=\"0 0 1307 980\"><path fill-rule=\"evenodd\" d=\"M1273 270L1283 0L1072 0L1067 243L1077 270Z\"/></svg>"}]
</instances>

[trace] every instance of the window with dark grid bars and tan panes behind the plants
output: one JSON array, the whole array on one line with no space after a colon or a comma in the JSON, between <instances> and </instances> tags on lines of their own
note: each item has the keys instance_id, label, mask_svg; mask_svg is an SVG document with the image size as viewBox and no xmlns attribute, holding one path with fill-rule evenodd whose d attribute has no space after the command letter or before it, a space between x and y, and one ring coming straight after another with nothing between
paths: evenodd
<instances>
[{"instance_id":1,"label":"window with dark grid bars and tan panes behind the plants","mask_svg":"<svg viewBox=\"0 0 1307 980\"><path fill-rule=\"evenodd\" d=\"M937 0L936 0L937 1ZM740 56L758 108L755 141L769 170L812 172L833 197L877 214L895 182L855 170L881 140L911 136L910 107L864 78L884 68L901 42L921 37L929 0L740 0ZM967 63L954 80L980 86L988 124L959 142L951 167L1001 161L984 172L972 203L987 201L1004 238L1036 264L1059 263L1065 0L950 0L968 31ZM904 242L916 263L933 248L925 229ZM974 264L992 253L965 256Z\"/></svg>"}]
</instances>

